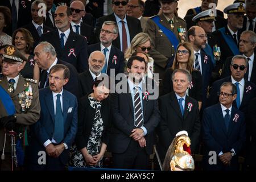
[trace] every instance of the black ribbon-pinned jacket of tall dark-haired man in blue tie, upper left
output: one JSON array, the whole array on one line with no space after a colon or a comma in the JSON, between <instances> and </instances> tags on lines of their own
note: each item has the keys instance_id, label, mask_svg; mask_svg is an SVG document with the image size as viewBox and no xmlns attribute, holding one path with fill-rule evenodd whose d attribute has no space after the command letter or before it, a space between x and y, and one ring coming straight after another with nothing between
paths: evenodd
<instances>
[{"instance_id":1,"label":"black ribbon-pinned jacket of tall dark-haired man in blue tie, upper left","mask_svg":"<svg viewBox=\"0 0 256 182\"><path fill-rule=\"evenodd\" d=\"M86 64L85 60L87 57L88 46L85 38L81 35L70 31L64 48L60 47L60 36L57 29L43 34L40 38L40 42L42 41L51 43L55 48L57 57L73 64L73 66L77 69L77 72L81 73L88 68L88 64ZM72 48L75 55L71 53Z\"/></svg>"}]
</instances>

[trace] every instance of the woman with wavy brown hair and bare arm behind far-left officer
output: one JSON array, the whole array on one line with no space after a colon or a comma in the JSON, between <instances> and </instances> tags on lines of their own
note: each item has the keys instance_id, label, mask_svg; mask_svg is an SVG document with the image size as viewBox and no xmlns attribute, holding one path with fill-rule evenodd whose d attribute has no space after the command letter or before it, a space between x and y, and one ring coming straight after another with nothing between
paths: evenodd
<instances>
[{"instance_id":1,"label":"woman with wavy brown hair and bare arm behind far-left officer","mask_svg":"<svg viewBox=\"0 0 256 182\"><path fill-rule=\"evenodd\" d=\"M24 78L33 78L39 81L39 67L34 61L34 56L30 55L33 51L34 39L25 28L18 28L13 32L13 45L27 58L27 62L24 61L23 69L20 74Z\"/></svg>"}]
</instances>

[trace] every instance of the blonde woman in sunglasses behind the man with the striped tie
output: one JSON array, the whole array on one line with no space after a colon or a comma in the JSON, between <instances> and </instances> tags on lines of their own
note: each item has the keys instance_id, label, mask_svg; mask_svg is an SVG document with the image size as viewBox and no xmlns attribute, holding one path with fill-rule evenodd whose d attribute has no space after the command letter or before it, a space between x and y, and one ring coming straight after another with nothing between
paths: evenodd
<instances>
[{"instance_id":1,"label":"blonde woman in sunglasses behind the man with the striped tie","mask_svg":"<svg viewBox=\"0 0 256 182\"><path fill-rule=\"evenodd\" d=\"M133 40L131 40L130 46L127 48L125 52L126 62L134 52L143 52L146 55L148 55L148 52L151 50L151 42L152 40L150 36L146 33L141 32L135 35ZM124 70L126 71L126 68ZM153 75L154 75L154 60L152 59L152 57L148 56L147 76L152 78Z\"/></svg>"}]
</instances>

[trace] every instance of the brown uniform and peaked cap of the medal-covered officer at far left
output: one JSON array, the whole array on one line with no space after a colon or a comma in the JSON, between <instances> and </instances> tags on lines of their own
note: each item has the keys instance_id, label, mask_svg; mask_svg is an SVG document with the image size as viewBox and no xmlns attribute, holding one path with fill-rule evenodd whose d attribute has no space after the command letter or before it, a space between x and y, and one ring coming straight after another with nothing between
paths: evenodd
<instances>
[{"instance_id":1,"label":"brown uniform and peaked cap of the medal-covered officer at far left","mask_svg":"<svg viewBox=\"0 0 256 182\"><path fill-rule=\"evenodd\" d=\"M23 63L23 60L26 60L26 58L14 46L7 46L5 48L3 61ZM26 126L35 123L40 117L38 82L19 75L18 81L16 81L16 88L14 89L9 84L7 77L3 75L0 77L0 86L9 94L11 98L10 102L12 101L15 107L14 117L16 118L16 122L14 131L17 134L15 139L25 141ZM0 119L9 115L2 101L0 97ZM0 152L5 155L5 159L0 160L0 171L11 170L11 137L6 134L7 132L5 130L4 127L0 127Z\"/></svg>"}]
</instances>

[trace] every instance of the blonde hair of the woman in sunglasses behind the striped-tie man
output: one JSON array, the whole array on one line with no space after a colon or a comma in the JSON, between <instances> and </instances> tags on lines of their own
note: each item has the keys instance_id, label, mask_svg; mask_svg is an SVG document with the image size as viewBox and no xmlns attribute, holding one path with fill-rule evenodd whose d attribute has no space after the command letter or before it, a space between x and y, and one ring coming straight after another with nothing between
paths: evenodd
<instances>
[{"instance_id":1,"label":"blonde hair of the woman in sunglasses behind the striped-tie man","mask_svg":"<svg viewBox=\"0 0 256 182\"><path fill-rule=\"evenodd\" d=\"M141 32L141 33L135 35L133 40L131 40L130 46L125 51L125 58L128 59L129 57L131 57L131 55L134 52L136 52L136 48L139 45L146 43L148 40L150 43L152 43L150 36L146 33Z\"/></svg>"}]
</instances>

